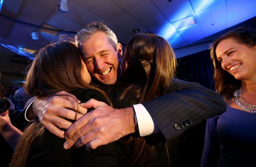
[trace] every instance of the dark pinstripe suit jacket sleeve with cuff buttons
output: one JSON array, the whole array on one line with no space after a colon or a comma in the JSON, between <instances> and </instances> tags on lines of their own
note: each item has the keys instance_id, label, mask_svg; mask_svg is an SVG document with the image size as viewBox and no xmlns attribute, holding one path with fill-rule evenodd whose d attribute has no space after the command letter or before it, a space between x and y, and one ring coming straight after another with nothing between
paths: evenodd
<instances>
[{"instance_id":1,"label":"dark pinstripe suit jacket sleeve with cuff buttons","mask_svg":"<svg viewBox=\"0 0 256 167\"><path fill-rule=\"evenodd\" d=\"M173 79L168 94L142 104L167 141L226 110L218 93L196 82L179 79Z\"/></svg>"}]
</instances>

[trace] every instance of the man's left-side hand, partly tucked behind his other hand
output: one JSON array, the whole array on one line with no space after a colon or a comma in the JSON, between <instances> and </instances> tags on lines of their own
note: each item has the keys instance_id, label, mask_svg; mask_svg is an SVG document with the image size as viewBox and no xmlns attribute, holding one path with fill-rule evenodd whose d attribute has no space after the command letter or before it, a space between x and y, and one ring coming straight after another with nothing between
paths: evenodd
<instances>
[{"instance_id":1,"label":"man's left-side hand, partly tucked behind his other hand","mask_svg":"<svg viewBox=\"0 0 256 167\"><path fill-rule=\"evenodd\" d=\"M58 92L57 95L37 98L33 102L33 112L46 129L63 138L65 131L59 128L68 129L72 122L67 119L77 120L87 113L87 109L79 105L80 101L75 96L65 91Z\"/></svg>"}]
</instances>

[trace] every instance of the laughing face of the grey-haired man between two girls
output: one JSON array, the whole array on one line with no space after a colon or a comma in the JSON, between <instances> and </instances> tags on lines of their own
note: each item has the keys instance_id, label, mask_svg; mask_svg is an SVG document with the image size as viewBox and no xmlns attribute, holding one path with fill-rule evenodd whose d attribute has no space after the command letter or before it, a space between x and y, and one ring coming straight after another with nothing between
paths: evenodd
<instances>
[{"instance_id":1,"label":"laughing face of the grey-haired man between two girls","mask_svg":"<svg viewBox=\"0 0 256 167\"><path fill-rule=\"evenodd\" d=\"M103 32L97 32L81 44L89 72L102 84L115 84L119 75L119 59L122 56L120 43L115 48Z\"/></svg>"}]
</instances>

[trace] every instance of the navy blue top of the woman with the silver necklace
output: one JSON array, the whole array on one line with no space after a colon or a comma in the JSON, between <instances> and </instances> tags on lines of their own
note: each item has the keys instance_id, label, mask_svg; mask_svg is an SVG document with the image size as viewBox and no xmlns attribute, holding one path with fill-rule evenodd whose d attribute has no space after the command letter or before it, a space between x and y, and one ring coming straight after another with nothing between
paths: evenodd
<instances>
[{"instance_id":1,"label":"navy blue top of the woman with the silver necklace","mask_svg":"<svg viewBox=\"0 0 256 167\"><path fill-rule=\"evenodd\" d=\"M207 119L201 166L256 166L256 114L227 106Z\"/></svg>"}]
</instances>

